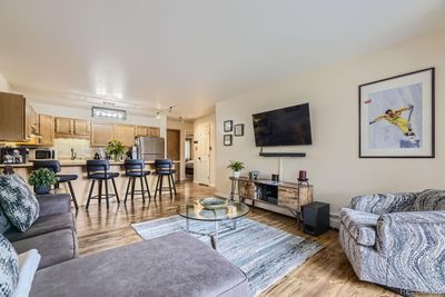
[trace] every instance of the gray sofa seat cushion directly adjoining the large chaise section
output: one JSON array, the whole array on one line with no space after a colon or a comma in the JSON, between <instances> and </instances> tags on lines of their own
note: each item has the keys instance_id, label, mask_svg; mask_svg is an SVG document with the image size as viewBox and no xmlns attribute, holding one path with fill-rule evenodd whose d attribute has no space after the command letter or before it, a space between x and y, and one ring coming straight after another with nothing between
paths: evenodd
<instances>
[{"instance_id":1,"label":"gray sofa seat cushion directly adjoining the large chaise section","mask_svg":"<svg viewBox=\"0 0 445 297\"><path fill-rule=\"evenodd\" d=\"M17 253L37 249L41 256L39 268L42 269L78 256L77 236L71 229L39 235L12 242Z\"/></svg>"}]
</instances>

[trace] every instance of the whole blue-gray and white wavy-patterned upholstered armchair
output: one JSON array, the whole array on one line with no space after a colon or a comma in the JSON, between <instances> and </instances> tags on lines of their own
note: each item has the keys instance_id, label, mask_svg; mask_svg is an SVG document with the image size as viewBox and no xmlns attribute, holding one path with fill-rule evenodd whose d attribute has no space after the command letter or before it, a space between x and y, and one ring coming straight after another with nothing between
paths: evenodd
<instances>
[{"instance_id":1,"label":"whole blue-gray and white wavy-patterned upholstered armchair","mask_svg":"<svg viewBox=\"0 0 445 297\"><path fill-rule=\"evenodd\" d=\"M339 217L339 241L359 279L445 293L445 191L358 196Z\"/></svg>"}]
</instances>

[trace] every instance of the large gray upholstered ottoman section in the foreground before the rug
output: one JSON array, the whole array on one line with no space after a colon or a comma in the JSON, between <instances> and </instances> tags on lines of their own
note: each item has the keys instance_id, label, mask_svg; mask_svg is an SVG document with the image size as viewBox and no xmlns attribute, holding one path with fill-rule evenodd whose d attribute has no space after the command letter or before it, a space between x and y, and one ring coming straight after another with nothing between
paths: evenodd
<instances>
[{"instance_id":1,"label":"large gray upholstered ottoman section in the foreground before the rug","mask_svg":"<svg viewBox=\"0 0 445 297\"><path fill-rule=\"evenodd\" d=\"M246 275L186 232L37 271L30 296L248 296Z\"/></svg>"}]
</instances>

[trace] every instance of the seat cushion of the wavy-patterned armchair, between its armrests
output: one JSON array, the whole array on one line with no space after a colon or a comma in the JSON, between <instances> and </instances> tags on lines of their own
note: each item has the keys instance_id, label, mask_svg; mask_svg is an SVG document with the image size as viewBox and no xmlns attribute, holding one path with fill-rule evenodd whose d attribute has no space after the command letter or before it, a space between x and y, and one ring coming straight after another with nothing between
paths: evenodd
<instances>
[{"instance_id":1,"label":"seat cushion of the wavy-patterned armchair, between its armrests","mask_svg":"<svg viewBox=\"0 0 445 297\"><path fill-rule=\"evenodd\" d=\"M363 246L375 245L378 215L342 208L339 216L342 224L357 244Z\"/></svg>"}]
</instances>

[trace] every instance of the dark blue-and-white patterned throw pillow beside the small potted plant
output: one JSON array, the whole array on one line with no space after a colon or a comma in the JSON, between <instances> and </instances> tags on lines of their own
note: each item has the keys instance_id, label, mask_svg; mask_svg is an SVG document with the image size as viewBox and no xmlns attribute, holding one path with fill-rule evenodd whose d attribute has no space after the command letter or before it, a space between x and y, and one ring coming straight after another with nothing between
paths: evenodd
<instances>
[{"instance_id":1,"label":"dark blue-and-white patterned throw pillow beside the small potted plant","mask_svg":"<svg viewBox=\"0 0 445 297\"><path fill-rule=\"evenodd\" d=\"M0 176L0 205L11 224L22 232L39 217L39 201L17 175Z\"/></svg>"}]
</instances>

